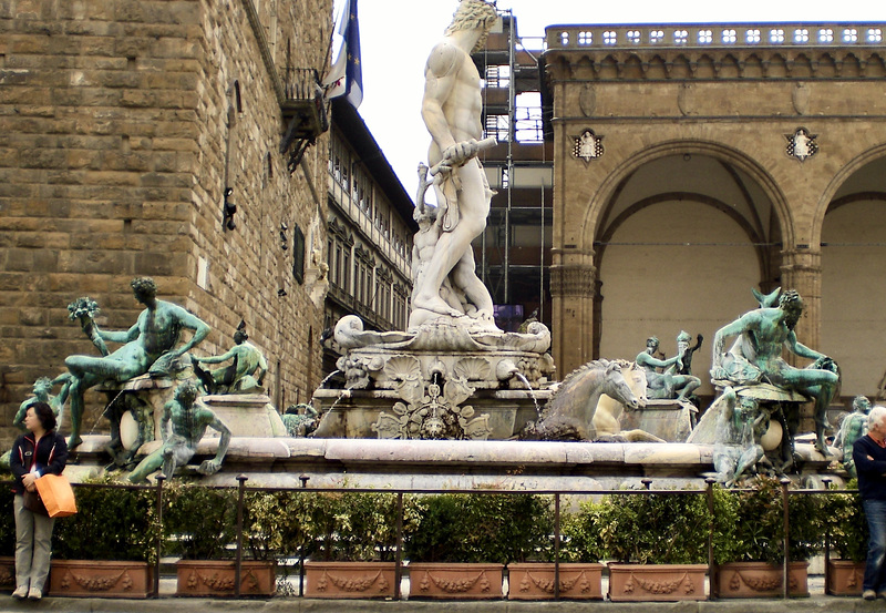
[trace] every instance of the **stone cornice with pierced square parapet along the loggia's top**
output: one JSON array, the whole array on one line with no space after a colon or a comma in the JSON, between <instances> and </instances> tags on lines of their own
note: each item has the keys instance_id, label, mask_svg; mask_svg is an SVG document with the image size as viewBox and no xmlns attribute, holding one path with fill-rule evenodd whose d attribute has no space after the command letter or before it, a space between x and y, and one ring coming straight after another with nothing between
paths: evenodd
<instances>
[{"instance_id":1,"label":"stone cornice with pierced square parapet along the loggia's top","mask_svg":"<svg viewBox=\"0 0 886 613\"><path fill-rule=\"evenodd\" d=\"M877 79L886 76L884 32L886 24L550 27L545 61L553 81Z\"/></svg>"}]
</instances>

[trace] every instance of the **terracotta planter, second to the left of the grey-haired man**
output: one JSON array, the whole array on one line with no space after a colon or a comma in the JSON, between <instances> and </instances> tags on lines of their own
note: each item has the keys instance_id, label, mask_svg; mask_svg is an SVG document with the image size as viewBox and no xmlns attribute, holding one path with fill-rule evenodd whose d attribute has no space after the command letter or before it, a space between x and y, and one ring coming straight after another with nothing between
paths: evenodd
<instances>
[{"instance_id":1,"label":"terracotta planter, second to the left of the grey-haired man","mask_svg":"<svg viewBox=\"0 0 886 613\"><path fill-rule=\"evenodd\" d=\"M791 562L789 594L808 596L808 562ZM729 562L720 565L714 594L721 599L771 599L784 593L782 566L766 562Z\"/></svg>"}]
</instances>

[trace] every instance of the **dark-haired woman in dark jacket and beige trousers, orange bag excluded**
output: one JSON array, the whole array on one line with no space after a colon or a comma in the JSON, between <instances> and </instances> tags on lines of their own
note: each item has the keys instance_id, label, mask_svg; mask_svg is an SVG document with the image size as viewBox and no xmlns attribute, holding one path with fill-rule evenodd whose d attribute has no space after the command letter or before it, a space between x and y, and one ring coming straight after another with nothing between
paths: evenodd
<instances>
[{"instance_id":1,"label":"dark-haired woman in dark jacket and beige trousers, orange bag excluded","mask_svg":"<svg viewBox=\"0 0 886 613\"><path fill-rule=\"evenodd\" d=\"M24 508L24 492L35 492L34 481L48 472L61 474L68 463L68 445L55 431L55 415L45 402L34 402L24 413L28 432L16 439L9 466L16 480L16 591L17 600L40 600L49 574L53 518Z\"/></svg>"}]
</instances>

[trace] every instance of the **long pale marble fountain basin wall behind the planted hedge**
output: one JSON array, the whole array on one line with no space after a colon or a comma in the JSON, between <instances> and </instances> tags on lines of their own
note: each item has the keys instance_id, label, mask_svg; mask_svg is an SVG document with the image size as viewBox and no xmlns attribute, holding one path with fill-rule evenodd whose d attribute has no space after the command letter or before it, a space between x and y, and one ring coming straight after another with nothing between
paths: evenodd
<instances>
[{"instance_id":1,"label":"long pale marble fountain basin wall behind the planted hedge","mask_svg":"<svg viewBox=\"0 0 886 613\"><path fill-rule=\"evenodd\" d=\"M73 481L103 472L106 436L84 437L65 474ZM204 439L188 464L215 454L217 439ZM799 482L831 477L830 459L812 445L796 446ZM832 450L835 451L835 450ZM231 438L222 471L200 479L216 486L367 487L404 490L494 488L502 490L703 489L713 471L713 446L647 442L527 442L471 440L353 440Z\"/></svg>"}]
</instances>

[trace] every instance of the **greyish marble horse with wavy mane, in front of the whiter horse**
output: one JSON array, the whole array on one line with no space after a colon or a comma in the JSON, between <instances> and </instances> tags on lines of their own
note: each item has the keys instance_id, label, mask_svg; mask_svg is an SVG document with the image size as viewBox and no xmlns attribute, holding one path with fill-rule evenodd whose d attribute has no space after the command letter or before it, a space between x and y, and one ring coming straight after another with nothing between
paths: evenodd
<instances>
[{"instance_id":1,"label":"greyish marble horse with wavy mane, in front of the whiter horse","mask_svg":"<svg viewBox=\"0 0 886 613\"><path fill-rule=\"evenodd\" d=\"M519 435L522 440L595 440L594 418L602 395L629 409L640 408L640 398L621 370L624 361L589 361L567 375L542 411Z\"/></svg>"}]
</instances>

